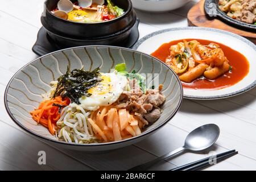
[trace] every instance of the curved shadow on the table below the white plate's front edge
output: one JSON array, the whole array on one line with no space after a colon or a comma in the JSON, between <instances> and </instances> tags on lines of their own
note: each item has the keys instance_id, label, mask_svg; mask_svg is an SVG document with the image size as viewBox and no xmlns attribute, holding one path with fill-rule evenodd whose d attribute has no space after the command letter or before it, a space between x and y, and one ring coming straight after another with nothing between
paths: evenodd
<instances>
[{"instance_id":1,"label":"curved shadow on the table below the white plate's front edge","mask_svg":"<svg viewBox=\"0 0 256 182\"><path fill-rule=\"evenodd\" d=\"M256 88L238 96L221 100L183 100L180 111L194 114L218 114L236 111L244 106L250 106L256 100Z\"/></svg>"}]
</instances>

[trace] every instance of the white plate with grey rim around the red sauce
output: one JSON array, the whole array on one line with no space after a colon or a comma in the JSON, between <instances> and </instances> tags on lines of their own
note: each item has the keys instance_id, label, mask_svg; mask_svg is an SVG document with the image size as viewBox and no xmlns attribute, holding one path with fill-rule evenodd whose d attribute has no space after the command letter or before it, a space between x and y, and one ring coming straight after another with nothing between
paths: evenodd
<instances>
[{"instance_id":1,"label":"white plate with grey rim around the red sauce","mask_svg":"<svg viewBox=\"0 0 256 182\"><path fill-rule=\"evenodd\" d=\"M163 43L180 39L205 39L222 43L242 53L250 63L249 73L237 84L220 90L193 90L184 88L184 98L195 100L214 100L236 96L256 85L256 46L242 36L213 28L183 27L160 30L149 34L133 47L138 51L151 54Z\"/></svg>"}]
</instances>

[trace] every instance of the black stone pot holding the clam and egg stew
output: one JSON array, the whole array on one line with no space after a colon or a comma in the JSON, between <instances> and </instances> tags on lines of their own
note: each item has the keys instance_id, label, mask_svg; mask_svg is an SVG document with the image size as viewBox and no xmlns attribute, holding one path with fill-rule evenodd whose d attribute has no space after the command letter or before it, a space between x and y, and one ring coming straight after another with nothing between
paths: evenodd
<instances>
[{"instance_id":1,"label":"black stone pot holding the clam and egg stew","mask_svg":"<svg viewBox=\"0 0 256 182\"><path fill-rule=\"evenodd\" d=\"M76 2L76 0L71 0ZM61 19L51 13L59 0L47 0L44 3L44 12L41 22L48 32L68 39L98 39L119 32L128 32L135 24L137 16L130 0L113 0L113 3L123 10L125 14L106 22L81 23Z\"/></svg>"}]
</instances>

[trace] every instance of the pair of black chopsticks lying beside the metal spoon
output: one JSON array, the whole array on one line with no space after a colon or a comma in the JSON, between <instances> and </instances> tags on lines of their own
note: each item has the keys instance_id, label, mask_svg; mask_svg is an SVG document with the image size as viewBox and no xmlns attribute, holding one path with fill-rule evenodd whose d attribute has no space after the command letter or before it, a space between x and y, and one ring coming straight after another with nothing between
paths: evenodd
<instances>
[{"instance_id":1,"label":"pair of black chopsticks lying beside the metal spoon","mask_svg":"<svg viewBox=\"0 0 256 182\"><path fill-rule=\"evenodd\" d=\"M221 162L224 159L227 159L233 155L238 154L236 150L230 150L228 152L223 152L221 154L217 154L216 156L209 156L208 158L197 160L196 162L192 162L189 164L185 164L184 166L180 166L174 169L171 169L170 171L196 171L208 166L211 166L212 164L209 163L209 159L216 157L216 162Z\"/></svg>"}]
</instances>

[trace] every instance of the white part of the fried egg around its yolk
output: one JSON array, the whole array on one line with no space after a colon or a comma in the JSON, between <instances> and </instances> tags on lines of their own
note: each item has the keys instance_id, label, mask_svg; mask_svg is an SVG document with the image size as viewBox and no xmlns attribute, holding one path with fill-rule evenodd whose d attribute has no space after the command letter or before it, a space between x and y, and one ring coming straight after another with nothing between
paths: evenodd
<instances>
[{"instance_id":1,"label":"white part of the fried egg around its yolk","mask_svg":"<svg viewBox=\"0 0 256 182\"><path fill-rule=\"evenodd\" d=\"M101 73L110 78L111 90L105 94L92 93L90 97L81 97L79 101L86 110L98 110L100 106L112 105L127 88L127 78L115 73Z\"/></svg>"}]
</instances>

